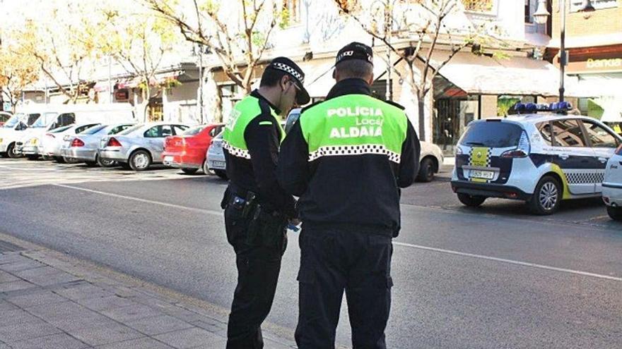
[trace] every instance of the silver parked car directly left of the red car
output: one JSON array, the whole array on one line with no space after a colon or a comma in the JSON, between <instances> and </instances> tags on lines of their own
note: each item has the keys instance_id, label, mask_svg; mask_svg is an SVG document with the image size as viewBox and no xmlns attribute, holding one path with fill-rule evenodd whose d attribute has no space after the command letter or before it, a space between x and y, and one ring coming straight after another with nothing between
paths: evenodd
<instances>
[{"instance_id":1,"label":"silver parked car directly left of the red car","mask_svg":"<svg viewBox=\"0 0 622 349\"><path fill-rule=\"evenodd\" d=\"M124 168L144 171L151 164L162 162L164 139L181 135L188 125L181 123L141 123L118 135L107 135L100 140L101 159L117 161Z\"/></svg>"}]
</instances>

